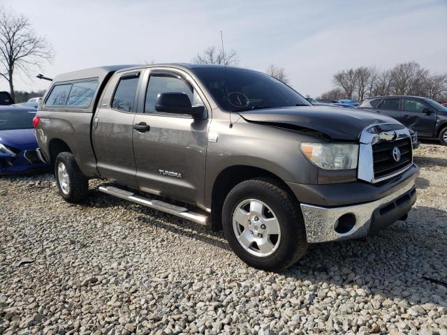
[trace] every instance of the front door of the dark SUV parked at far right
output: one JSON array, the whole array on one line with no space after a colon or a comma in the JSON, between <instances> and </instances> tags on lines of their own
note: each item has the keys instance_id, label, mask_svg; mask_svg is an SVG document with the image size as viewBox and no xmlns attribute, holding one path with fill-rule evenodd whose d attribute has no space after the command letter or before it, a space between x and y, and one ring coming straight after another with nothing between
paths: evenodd
<instances>
[{"instance_id":1,"label":"front door of the dark SUV parked at far right","mask_svg":"<svg viewBox=\"0 0 447 335\"><path fill-rule=\"evenodd\" d=\"M417 131L424 137L432 137L437 112L430 105L418 99L404 98L402 103L402 124Z\"/></svg>"}]
</instances>

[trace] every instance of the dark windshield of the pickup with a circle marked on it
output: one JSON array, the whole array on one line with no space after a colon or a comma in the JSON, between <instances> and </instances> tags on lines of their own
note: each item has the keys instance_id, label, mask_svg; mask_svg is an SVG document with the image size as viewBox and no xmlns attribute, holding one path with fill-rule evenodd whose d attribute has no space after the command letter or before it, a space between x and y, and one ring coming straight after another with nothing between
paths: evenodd
<instances>
[{"instance_id":1,"label":"dark windshield of the pickup with a circle marked on it","mask_svg":"<svg viewBox=\"0 0 447 335\"><path fill-rule=\"evenodd\" d=\"M298 92L264 73L242 68L194 68L220 107L230 112L312 106Z\"/></svg>"}]
</instances>

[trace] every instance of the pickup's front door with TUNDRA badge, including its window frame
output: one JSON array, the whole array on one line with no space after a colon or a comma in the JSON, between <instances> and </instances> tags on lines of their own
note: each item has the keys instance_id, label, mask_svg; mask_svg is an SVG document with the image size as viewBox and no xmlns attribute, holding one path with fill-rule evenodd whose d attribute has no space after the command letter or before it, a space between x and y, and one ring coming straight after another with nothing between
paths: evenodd
<instances>
[{"instance_id":1,"label":"pickup's front door with TUNDRA badge, including its window frame","mask_svg":"<svg viewBox=\"0 0 447 335\"><path fill-rule=\"evenodd\" d=\"M144 102L134 124L147 125L147 129L133 131L140 189L191 204L202 203L208 118L156 112L155 102L158 94L181 92L189 96L192 105L204 105L203 95L186 73L171 70L147 70L143 89L146 94L140 101Z\"/></svg>"}]
</instances>

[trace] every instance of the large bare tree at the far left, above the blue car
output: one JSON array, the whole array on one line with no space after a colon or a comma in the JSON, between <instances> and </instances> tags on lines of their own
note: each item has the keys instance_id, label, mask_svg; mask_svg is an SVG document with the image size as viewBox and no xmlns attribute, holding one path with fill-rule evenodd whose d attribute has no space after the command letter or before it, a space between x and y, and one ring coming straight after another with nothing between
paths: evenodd
<instances>
[{"instance_id":1,"label":"large bare tree at the far left, above the blue car","mask_svg":"<svg viewBox=\"0 0 447 335\"><path fill-rule=\"evenodd\" d=\"M52 61L53 57L51 44L36 35L27 17L0 8L0 75L8 81L13 98L15 71L29 76L31 70L41 68L43 61Z\"/></svg>"}]
</instances>

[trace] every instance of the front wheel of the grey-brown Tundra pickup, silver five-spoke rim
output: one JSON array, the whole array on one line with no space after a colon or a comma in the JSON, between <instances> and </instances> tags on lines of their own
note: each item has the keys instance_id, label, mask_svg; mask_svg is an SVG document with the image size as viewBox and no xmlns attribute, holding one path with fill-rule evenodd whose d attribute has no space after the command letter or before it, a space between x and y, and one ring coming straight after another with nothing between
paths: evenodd
<instances>
[{"instance_id":1,"label":"front wheel of the grey-brown Tundra pickup, silver five-spoke rim","mask_svg":"<svg viewBox=\"0 0 447 335\"><path fill-rule=\"evenodd\" d=\"M274 179L237 184L223 202L222 225L235 254L257 269L286 269L307 250L299 204Z\"/></svg>"}]
</instances>

